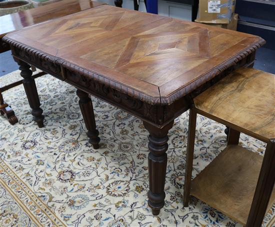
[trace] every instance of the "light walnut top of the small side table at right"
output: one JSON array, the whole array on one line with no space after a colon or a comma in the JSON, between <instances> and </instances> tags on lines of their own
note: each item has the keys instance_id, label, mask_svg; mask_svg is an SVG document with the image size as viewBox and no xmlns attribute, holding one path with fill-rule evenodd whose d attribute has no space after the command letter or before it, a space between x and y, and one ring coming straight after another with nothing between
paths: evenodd
<instances>
[{"instance_id":1,"label":"light walnut top of the small side table at right","mask_svg":"<svg viewBox=\"0 0 275 227\"><path fill-rule=\"evenodd\" d=\"M199 112L261 140L275 138L275 75L239 68L194 98Z\"/></svg>"}]
</instances>

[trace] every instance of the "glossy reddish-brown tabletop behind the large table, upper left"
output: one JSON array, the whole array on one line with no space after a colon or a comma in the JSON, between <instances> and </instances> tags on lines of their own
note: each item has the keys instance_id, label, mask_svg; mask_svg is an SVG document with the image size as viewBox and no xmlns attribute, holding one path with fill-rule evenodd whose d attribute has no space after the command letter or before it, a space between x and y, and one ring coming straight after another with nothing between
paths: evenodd
<instances>
[{"instance_id":1,"label":"glossy reddish-brown tabletop behind the large table, upper left","mask_svg":"<svg viewBox=\"0 0 275 227\"><path fill-rule=\"evenodd\" d=\"M104 3L91 0L60 0L37 8L31 8L0 16L0 37L6 33L44 22L53 18L79 12Z\"/></svg>"}]
</instances>

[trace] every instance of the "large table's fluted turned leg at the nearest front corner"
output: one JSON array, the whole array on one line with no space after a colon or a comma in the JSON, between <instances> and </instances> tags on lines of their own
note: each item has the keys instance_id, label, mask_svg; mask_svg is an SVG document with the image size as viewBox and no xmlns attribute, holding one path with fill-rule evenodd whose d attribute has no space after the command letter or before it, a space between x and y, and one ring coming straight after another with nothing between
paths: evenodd
<instances>
[{"instance_id":1,"label":"large table's fluted turned leg at the nearest front corner","mask_svg":"<svg viewBox=\"0 0 275 227\"><path fill-rule=\"evenodd\" d=\"M158 128L148 122L143 121L144 127L149 131L149 155L148 155L148 171L149 171L149 191L148 205L152 209L153 215L158 215L160 209L164 206L164 184L167 165L168 149L168 130L172 127L173 121L169 122L162 128Z\"/></svg>"}]
</instances>

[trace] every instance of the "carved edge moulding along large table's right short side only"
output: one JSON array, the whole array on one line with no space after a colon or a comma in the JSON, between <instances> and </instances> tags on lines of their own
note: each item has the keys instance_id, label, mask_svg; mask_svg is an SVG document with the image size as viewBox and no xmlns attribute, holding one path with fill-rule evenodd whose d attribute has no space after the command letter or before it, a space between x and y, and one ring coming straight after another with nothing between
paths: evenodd
<instances>
[{"instance_id":1,"label":"carved edge moulding along large table's right short side only","mask_svg":"<svg viewBox=\"0 0 275 227\"><path fill-rule=\"evenodd\" d=\"M185 87L179 88L177 91L175 91L174 93L166 97L161 96L160 94L161 105L169 105L173 103L175 100L185 96L186 94L189 94L191 91L195 90L206 81L212 79L219 73L223 72L225 69L236 64L238 61L240 61L241 59L243 59L244 57L246 57L247 55L249 55L250 53L252 53L253 51L255 51L256 49L258 49L264 44L265 44L265 40L259 37L259 40L257 42L249 45L247 48L239 52L237 55L217 65L214 69L211 69L210 71L202 74L198 79L190 82Z\"/></svg>"}]
</instances>

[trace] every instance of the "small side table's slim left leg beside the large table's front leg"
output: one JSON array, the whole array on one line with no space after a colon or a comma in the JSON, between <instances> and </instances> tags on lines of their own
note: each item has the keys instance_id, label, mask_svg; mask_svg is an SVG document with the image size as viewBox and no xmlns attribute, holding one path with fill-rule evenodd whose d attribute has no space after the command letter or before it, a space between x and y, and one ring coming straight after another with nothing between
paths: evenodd
<instances>
[{"instance_id":1,"label":"small side table's slim left leg beside the large table's front leg","mask_svg":"<svg viewBox=\"0 0 275 227\"><path fill-rule=\"evenodd\" d=\"M193 167L193 153L195 140L196 110L194 107L189 110L188 142L186 153L186 165L184 176L183 206L188 206L191 188L191 177Z\"/></svg>"}]
</instances>

